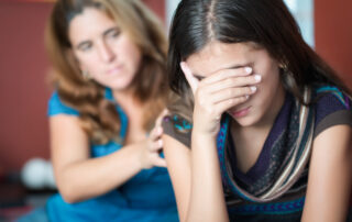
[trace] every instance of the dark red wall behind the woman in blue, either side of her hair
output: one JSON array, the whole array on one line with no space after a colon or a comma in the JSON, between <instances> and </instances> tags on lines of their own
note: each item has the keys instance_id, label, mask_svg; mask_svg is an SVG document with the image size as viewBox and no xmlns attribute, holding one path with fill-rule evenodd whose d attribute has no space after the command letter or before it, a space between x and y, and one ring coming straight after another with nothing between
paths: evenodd
<instances>
[{"instance_id":1,"label":"dark red wall behind the woman in blue, either side of her hair","mask_svg":"<svg viewBox=\"0 0 352 222\"><path fill-rule=\"evenodd\" d=\"M144 0L162 19L164 0ZM50 157L48 62L44 27L52 3L0 0L0 170Z\"/></svg>"}]
</instances>

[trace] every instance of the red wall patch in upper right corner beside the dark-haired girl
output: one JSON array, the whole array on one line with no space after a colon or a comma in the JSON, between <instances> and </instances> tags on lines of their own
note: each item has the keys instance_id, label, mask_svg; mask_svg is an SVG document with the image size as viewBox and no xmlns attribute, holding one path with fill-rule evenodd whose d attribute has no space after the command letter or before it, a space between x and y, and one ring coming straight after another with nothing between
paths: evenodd
<instances>
[{"instance_id":1,"label":"red wall patch in upper right corner beside the dark-haired girl","mask_svg":"<svg viewBox=\"0 0 352 222\"><path fill-rule=\"evenodd\" d=\"M316 49L352 89L352 1L316 0Z\"/></svg>"}]
</instances>

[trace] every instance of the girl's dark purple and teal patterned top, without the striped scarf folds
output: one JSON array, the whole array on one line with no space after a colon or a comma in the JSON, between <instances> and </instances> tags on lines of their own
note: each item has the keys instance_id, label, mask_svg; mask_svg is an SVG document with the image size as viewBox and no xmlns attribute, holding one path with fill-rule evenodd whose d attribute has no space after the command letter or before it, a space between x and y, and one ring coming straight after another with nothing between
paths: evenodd
<instances>
[{"instance_id":1,"label":"girl's dark purple and teal patterned top, without the striped scarf folds","mask_svg":"<svg viewBox=\"0 0 352 222\"><path fill-rule=\"evenodd\" d=\"M346 124L352 126L352 103L345 93L332 86L315 87L311 92L311 101L314 101L310 106L314 116L312 138L334 125ZM285 102L276 116L256 163L245 174L237 167L234 143L229 130L226 132L224 156L227 158L223 158L220 152L219 158L220 167L226 170L222 170L222 177L229 178L228 180L223 179L223 187L231 221L300 221L309 164L299 175L299 179L284 195L268 202L248 200L243 198L241 192L231 189L232 180L241 189L260 197L274 185L287 164L287 159L289 159L293 144L298 135L299 112L297 112L297 104L295 98L287 92ZM185 119L172 114L164 119L163 127L165 134L190 147L191 124ZM220 149L219 143L218 149ZM350 210L348 221L352 221L351 212Z\"/></svg>"}]
</instances>

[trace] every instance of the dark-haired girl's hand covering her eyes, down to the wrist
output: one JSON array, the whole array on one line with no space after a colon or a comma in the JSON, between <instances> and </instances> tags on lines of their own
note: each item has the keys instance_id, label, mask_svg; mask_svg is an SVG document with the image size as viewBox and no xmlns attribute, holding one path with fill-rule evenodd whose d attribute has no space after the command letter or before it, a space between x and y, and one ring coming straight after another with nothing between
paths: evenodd
<instances>
[{"instance_id":1,"label":"dark-haired girl's hand covering her eyes, down to the wrist","mask_svg":"<svg viewBox=\"0 0 352 222\"><path fill-rule=\"evenodd\" d=\"M261 76L252 75L251 67L221 69L201 80L185 62L180 68L195 96L194 132L213 136L219 131L221 114L245 102L255 93L254 85L261 81Z\"/></svg>"}]
</instances>

